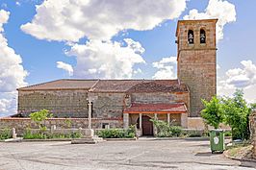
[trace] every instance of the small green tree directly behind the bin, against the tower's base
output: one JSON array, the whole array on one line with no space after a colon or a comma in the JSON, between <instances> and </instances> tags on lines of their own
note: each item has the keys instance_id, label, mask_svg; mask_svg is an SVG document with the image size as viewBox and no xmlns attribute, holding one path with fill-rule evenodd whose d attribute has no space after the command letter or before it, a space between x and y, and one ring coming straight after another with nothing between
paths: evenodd
<instances>
[{"instance_id":1,"label":"small green tree directly behind the bin, against the tower's base","mask_svg":"<svg viewBox=\"0 0 256 170\"><path fill-rule=\"evenodd\" d=\"M206 121L206 124L218 129L219 124L223 121L223 110L220 100L217 96L214 96L209 102L202 100L204 109L201 111L202 118Z\"/></svg>"}]
</instances>

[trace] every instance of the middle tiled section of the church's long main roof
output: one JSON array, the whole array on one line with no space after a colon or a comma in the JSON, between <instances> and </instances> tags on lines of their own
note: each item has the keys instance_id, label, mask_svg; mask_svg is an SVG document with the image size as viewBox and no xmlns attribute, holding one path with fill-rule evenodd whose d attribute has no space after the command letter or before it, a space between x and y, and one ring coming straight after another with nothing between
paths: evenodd
<instances>
[{"instance_id":1,"label":"middle tiled section of the church's long main roof","mask_svg":"<svg viewBox=\"0 0 256 170\"><path fill-rule=\"evenodd\" d=\"M143 80L99 80L91 87L90 92L125 92Z\"/></svg>"}]
</instances>

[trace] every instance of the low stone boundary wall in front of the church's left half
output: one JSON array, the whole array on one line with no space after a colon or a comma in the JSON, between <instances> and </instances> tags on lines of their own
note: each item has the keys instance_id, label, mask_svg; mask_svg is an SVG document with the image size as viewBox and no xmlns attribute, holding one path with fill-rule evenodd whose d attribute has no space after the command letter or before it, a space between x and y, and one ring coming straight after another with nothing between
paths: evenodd
<instances>
[{"instance_id":1,"label":"low stone boundary wall in front of the church's left half","mask_svg":"<svg viewBox=\"0 0 256 170\"><path fill-rule=\"evenodd\" d=\"M92 129L102 129L103 125L110 128L123 128L122 118L99 119L92 118ZM88 118L49 118L44 123L47 129L56 126L56 129L87 129ZM30 118L0 118L0 130L15 128L16 134L20 135L27 129L38 129L38 125Z\"/></svg>"}]
</instances>

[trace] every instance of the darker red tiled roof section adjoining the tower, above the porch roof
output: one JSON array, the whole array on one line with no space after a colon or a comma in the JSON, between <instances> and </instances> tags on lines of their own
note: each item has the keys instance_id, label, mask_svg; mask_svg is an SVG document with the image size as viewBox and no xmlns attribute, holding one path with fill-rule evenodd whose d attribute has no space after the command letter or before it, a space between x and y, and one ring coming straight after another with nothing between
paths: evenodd
<instances>
[{"instance_id":1,"label":"darker red tiled roof section adjoining the tower, above the porch roof","mask_svg":"<svg viewBox=\"0 0 256 170\"><path fill-rule=\"evenodd\" d=\"M153 80L132 86L127 92L178 92L189 91L188 86L178 80Z\"/></svg>"}]
</instances>

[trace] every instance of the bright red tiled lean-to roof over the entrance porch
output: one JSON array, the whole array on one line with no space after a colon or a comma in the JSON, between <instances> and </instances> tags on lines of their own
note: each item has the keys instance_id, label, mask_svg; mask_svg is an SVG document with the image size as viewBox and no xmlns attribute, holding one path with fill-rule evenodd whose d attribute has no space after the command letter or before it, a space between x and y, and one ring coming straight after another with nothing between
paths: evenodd
<instances>
[{"instance_id":1,"label":"bright red tiled lean-to roof over the entrance porch","mask_svg":"<svg viewBox=\"0 0 256 170\"><path fill-rule=\"evenodd\" d=\"M126 108L124 113L186 113L187 107L184 103L173 104L136 104Z\"/></svg>"}]
</instances>

